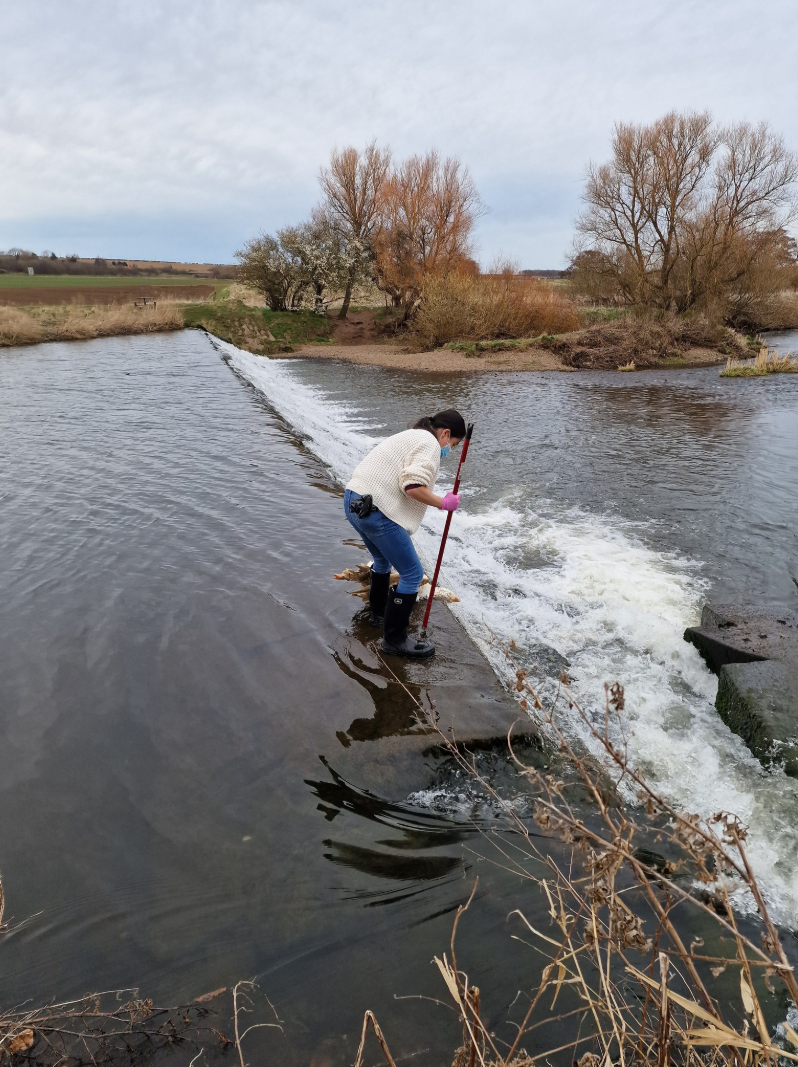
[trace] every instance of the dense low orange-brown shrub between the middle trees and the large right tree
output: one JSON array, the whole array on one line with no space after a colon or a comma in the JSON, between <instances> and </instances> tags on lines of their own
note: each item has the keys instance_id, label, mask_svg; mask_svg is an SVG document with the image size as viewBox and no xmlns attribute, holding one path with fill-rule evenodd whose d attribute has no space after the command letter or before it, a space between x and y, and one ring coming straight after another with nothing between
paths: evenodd
<instances>
[{"instance_id":1,"label":"dense low orange-brown shrub between the middle trees and the large right tree","mask_svg":"<svg viewBox=\"0 0 798 1067\"><path fill-rule=\"evenodd\" d=\"M452 340L565 333L580 324L574 302L540 278L511 270L451 273L427 280L409 337L420 350Z\"/></svg>"}]
</instances>

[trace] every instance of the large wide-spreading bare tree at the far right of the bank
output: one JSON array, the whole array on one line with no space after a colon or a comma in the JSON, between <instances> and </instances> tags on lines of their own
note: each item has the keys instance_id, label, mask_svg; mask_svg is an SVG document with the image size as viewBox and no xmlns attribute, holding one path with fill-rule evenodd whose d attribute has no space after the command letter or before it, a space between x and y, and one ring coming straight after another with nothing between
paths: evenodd
<instances>
[{"instance_id":1,"label":"large wide-spreading bare tree at the far right of the bank","mask_svg":"<svg viewBox=\"0 0 798 1067\"><path fill-rule=\"evenodd\" d=\"M642 309L740 317L752 293L783 284L761 267L780 261L797 178L764 123L718 129L706 112L671 112L619 124L611 160L588 173L576 278Z\"/></svg>"}]
</instances>

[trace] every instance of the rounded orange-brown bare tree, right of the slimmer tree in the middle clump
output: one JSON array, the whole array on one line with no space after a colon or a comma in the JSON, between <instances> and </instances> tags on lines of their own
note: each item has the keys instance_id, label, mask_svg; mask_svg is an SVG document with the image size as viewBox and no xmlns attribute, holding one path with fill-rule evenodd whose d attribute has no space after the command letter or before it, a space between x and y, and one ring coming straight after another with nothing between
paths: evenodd
<instances>
[{"instance_id":1,"label":"rounded orange-brown bare tree, right of the slimmer tree in the middle clump","mask_svg":"<svg viewBox=\"0 0 798 1067\"><path fill-rule=\"evenodd\" d=\"M427 277L468 265L482 210L468 169L436 152L411 156L385 179L374 235L376 277L405 319Z\"/></svg>"}]
</instances>

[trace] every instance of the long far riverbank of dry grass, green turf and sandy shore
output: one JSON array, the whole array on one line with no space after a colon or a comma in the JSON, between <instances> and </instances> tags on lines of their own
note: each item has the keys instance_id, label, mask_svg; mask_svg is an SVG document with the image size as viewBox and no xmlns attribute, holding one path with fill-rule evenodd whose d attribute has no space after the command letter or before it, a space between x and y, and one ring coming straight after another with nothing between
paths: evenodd
<instances>
[{"instance_id":1,"label":"long far riverbank of dry grass, green turf and sandy shore","mask_svg":"<svg viewBox=\"0 0 798 1067\"><path fill-rule=\"evenodd\" d=\"M193 291L200 296L202 288L194 286ZM105 302L106 290L102 302L92 303L84 302L85 293L78 298L76 290L69 303L0 306L0 347L200 328L255 355L337 360L424 373L682 369L752 354L747 338L733 330L675 317L661 321L623 317L559 335L453 341L432 351L414 351L405 338L383 333L373 308L355 308L346 321L307 310L271 312L241 299L237 290L242 288L222 290L221 299L212 302L186 302L188 294L178 292L177 286L170 288L165 300L160 290L160 299L154 299L154 286L147 300L135 293L131 300L131 293L118 286L118 299L112 303ZM99 296L100 289L95 293Z\"/></svg>"}]
</instances>

